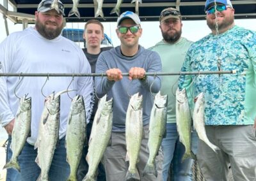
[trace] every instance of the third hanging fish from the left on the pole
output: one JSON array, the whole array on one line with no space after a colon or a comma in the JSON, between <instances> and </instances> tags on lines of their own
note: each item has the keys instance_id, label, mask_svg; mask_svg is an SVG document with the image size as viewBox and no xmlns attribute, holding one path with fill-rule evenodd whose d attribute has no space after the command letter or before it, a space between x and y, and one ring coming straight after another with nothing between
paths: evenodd
<instances>
[{"instance_id":1,"label":"third hanging fish from the left on the pole","mask_svg":"<svg viewBox=\"0 0 256 181\"><path fill-rule=\"evenodd\" d=\"M68 114L65 146L70 175L67 180L77 180L77 168L82 157L84 143L86 143L86 112L83 96L78 95L72 99Z\"/></svg>"}]
</instances>

